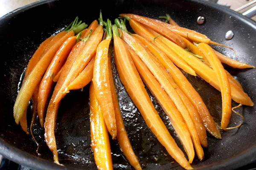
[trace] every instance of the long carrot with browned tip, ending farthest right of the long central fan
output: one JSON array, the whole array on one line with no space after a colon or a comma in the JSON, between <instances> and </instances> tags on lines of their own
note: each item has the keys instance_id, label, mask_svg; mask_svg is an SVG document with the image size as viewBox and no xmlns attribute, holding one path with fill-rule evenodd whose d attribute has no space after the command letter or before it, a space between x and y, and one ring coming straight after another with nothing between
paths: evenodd
<instances>
[{"instance_id":1,"label":"long carrot with browned tip, ending farthest right of the long central fan","mask_svg":"<svg viewBox=\"0 0 256 170\"><path fill-rule=\"evenodd\" d=\"M195 108L197 108L198 112L200 113L201 119L204 123L204 126L209 131L209 133L211 133L216 138L221 139L221 134L219 133L217 126L212 116L210 115L206 105L201 99L201 96L197 93L197 91L195 91L195 88L193 88L193 86L186 79L186 77L181 73L181 71L172 63L172 61L166 56L166 54L160 51L159 48L157 48L148 40L146 40L145 38L137 34L133 34L133 36L139 38L140 41L147 46L147 48L151 51L151 53L154 54L154 56L157 57L157 59L169 71L169 74L171 74L172 78L175 80L175 82L183 91L183 93L186 94L190 102L192 102ZM205 144L203 146L205 146Z\"/></svg>"}]
</instances>

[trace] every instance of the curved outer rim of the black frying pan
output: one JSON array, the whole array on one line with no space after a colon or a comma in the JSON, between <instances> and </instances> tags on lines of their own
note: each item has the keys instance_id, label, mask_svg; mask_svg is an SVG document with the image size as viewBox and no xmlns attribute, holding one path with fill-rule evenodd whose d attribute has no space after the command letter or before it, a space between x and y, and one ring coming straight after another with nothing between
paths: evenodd
<instances>
[{"instance_id":1,"label":"curved outer rim of the black frying pan","mask_svg":"<svg viewBox=\"0 0 256 170\"><path fill-rule=\"evenodd\" d=\"M14 17L17 14L20 14L23 11L27 11L36 6L40 6L46 3L51 3L54 1L58 1L58 0L41 0L35 3L28 4L26 6L17 8L14 11L11 11L8 14L5 14L2 17L0 17L0 23L4 23L5 20L8 20L9 18ZM241 20L242 22L247 23L248 25L256 29L256 21L253 21L250 18L245 17L242 14L236 11L233 11L229 8L225 8L223 6L220 6L218 4L215 4L209 1L203 1L203 0L188 0L188 1L192 1L194 3L201 3L211 8L215 8L216 10L224 10L225 13L230 14L231 16L234 16L234 15L237 16L236 19ZM26 167L36 168L37 170L45 170L45 169L67 170L68 169L67 167L62 167L58 164L55 164L52 161L48 161L46 159L42 159L40 157L26 153L20 148L14 147L8 142L5 142L3 139L0 139L0 154L11 161L15 161L18 164L24 165ZM250 164L255 160L256 160L256 144L252 145L247 150L244 150L243 152L235 156L232 156L230 158L227 158L221 161L216 161L212 164L206 164L201 167L195 166L195 169L232 170L232 169L236 169L244 165Z\"/></svg>"}]
</instances>

